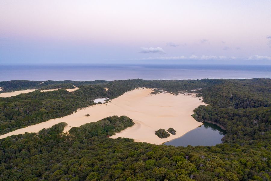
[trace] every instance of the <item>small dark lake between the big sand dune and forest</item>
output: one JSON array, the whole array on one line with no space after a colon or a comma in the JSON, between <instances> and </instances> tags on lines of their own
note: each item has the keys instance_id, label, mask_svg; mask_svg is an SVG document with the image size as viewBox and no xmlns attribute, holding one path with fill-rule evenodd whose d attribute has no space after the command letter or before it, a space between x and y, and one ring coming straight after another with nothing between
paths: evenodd
<instances>
[{"instance_id":1,"label":"small dark lake between the big sand dune and forest","mask_svg":"<svg viewBox=\"0 0 271 181\"><path fill-rule=\"evenodd\" d=\"M187 132L179 138L168 141L164 144L173 146L213 146L222 143L221 138L226 134L226 131L219 126L204 122L203 125L196 129Z\"/></svg>"}]
</instances>

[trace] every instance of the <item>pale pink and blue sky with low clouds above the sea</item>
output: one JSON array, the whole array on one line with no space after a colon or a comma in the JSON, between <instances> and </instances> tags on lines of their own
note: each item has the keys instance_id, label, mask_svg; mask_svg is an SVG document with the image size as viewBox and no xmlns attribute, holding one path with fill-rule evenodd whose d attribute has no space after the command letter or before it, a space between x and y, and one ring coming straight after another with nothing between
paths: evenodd
<instances>
[{"instance_id":1,"label":"pale pink and blue sky with low clouds above the sea","mask_svg":"<svg viewBox=\"0 0 271 181\"><path fill-rule=\"evenodd\" d=\"M0 1L0 64L64 63L271 65L271 1Z\"/></svg>"}]
</instances>

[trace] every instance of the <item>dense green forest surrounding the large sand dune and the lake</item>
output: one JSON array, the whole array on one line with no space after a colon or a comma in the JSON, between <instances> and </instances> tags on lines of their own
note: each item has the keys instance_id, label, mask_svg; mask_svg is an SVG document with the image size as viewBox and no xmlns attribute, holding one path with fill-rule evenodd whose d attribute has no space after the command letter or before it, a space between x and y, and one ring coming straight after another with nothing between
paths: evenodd
<instances>
[{"instance_id":1,"label":"dense green forest surrounding the large sand dune and the lake","mask_svg":"<svg viewBox=\"0 0 271 181\"><path fill-rule=\"evenodd\" d=\"M25 82L33 81L0 82L0 87L33 86L24 86ZM173 94L201 88L194 92L209 106L196 108L193 117L223 126L227 131L223 144L184 148L108 138L133 125L126 116L72 128L69 135L61 133L66 124L59 123L38 134L1 139L1 180L270 180L270 79L74 82L54 85L76 85L79 89L73 93L36 90L0 98L1 134L70 114L94 104L92 99L112 99L137 87Z\"/></svg>"}]
</instances>

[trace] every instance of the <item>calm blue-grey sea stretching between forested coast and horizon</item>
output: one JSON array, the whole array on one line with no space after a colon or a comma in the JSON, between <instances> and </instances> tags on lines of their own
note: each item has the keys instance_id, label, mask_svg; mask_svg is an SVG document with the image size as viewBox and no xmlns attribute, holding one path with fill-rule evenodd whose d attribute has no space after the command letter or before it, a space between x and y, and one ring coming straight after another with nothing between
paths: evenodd
<instances>
[{"instance_id":1,"label":"calm blue-grey sea stretching between forested coast and horizon","mask_svg":"<svg viewBox=\"0 0 271 181\"><path fill-rule=\"evenodd\" d=\"M271 78L271 65L0 65L0 81L112 81L135 78Z\"/></svg>"}]
</instances>

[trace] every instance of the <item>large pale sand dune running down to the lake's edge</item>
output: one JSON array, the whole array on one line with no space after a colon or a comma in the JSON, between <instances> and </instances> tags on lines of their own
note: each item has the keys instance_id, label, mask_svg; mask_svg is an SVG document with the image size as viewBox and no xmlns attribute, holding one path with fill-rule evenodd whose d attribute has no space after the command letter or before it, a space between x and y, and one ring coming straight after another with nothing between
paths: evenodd
<instances>
[{"instance_id":1,"label":"large pale sand dune running down to the lake's edge","mask_svg":"<svg viewBox=\"0 0 271 181\"><path fill-rule=\"evenodd\" d=\"M169 93L150 95L151 92L151 89L135 89L111 100L110 103L89 106L62 118L51 119L1 135L0 138L25 132L38 132L42 128L49 128L58 122L68 124L64 129L64 132L67 132L71 127L95 122L108 116L125 115L133 119L136 124L117 133L112 138L128 137L135 141L161 144L178 138L201 125L191 116L196 107L204 105L197 97L183 94L174 96ZM86 114L90 116L87 117ZM160 128L167 130L170 127L176 130L176 135L163 139L155 135L156 130Z\"/></svg>"}]
</instances>

